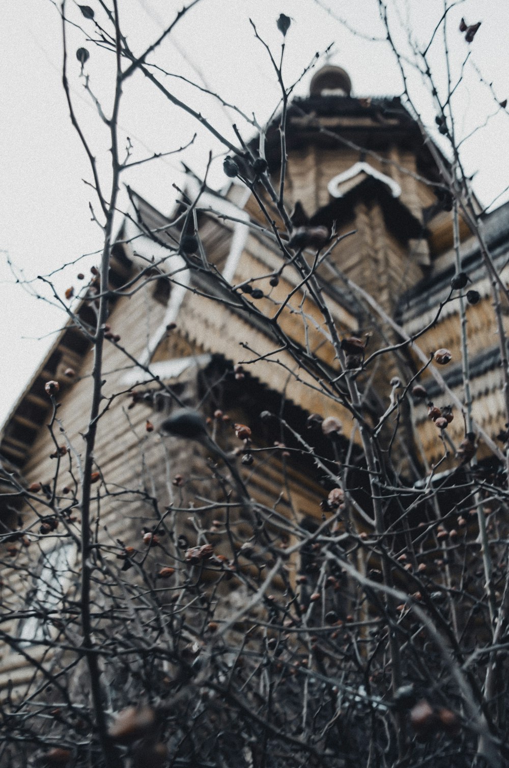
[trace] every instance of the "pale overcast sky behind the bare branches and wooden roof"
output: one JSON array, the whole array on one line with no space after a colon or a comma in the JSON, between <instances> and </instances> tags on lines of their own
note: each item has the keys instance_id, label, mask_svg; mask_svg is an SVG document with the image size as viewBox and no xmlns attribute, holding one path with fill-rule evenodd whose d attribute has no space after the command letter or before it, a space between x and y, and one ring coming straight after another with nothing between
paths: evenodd
<instances>
[{"instance_id":1,"label":"pale overcast sky behind the bare branches and wooden roof","mask_svg":"<svg viewBox=\"0 0 509 768\"><path fill-rule=\"evenodd\" d=\"M95 11L95 18L106 25L98 0L80 0ZM107 0L109 5L111 2ZM158 37L164 25L174 18L182 2L175 0L118 0L121 25L131 48L140 54ZM392 0L389 0L391 5ZM59 4L58 4L59 5ZM391 5L391 8L393 6ZM443 12L443 0L398 0L399 18L392 15L394 38L404 45L398 28L407 23L417 40L429 40ZM354 95L401 94L401 78L394 57L383 38L377 0L201 0L177 25L153 61L166 71L183 75L221 94L247 114L255 112L259 122L268 118L278 105L278 85L266 51L255 40L249 18L278 58L282 37L276 27L278 15L292 18L286 37L284 78L296 80L316 51L331 43L329 61L344 67L351 76ZM68 79L78 119L98 167L105 189L108 187L108 131L83 88L75 51L85 46L90 59L85 72L91 88L106 114L111 104L112 57L87 41L95 34L94 23L83 18L75 0L67 2L68 17L78 27L69 30ZM472 45L458 31L461 16L468 24L482 21ZM334 18L335 17L335 18ZM355 36L341 24L361 32ZM468 51L464 84L454 94L457 129L467 136L478 125L483 127L467 138L461 147L467 172L476 173L474 190L482 204L488 205L509 184L509 112L497 108L497 101L509 98L509 5L507 0L464 0L448 17L447 42L450 48L453 81ZM65 323L62 310L35 299L15 284L7 266L9 257L25 278L32 280L32 293L49 296L35 280L54 270L55 286L61 293L71 285L79 271L88 273L97 257L85 256L101 250L101 231L91 221L89 203L98 209L94 191L83 180L91 180L90 167L78 135L72 128L62 89L62 25L52 0L2 0L0 10L0 93L2 102L2 141L0 142L0 307L2 332L0 347L0 423L22 393L48 346L55 329ZM437 35L429 51L431 67L437 75L439 92L444 88L444 41ZM324 62L323 62L324 63ZM320 66L320 65L318 65ZM486 85L479 85L475 67ZM315 70L316 71L316 70ZM308 92L309 73L295 89ZM161 75L168 90L201 111L219 131L235 143L231 122L243 136L252 128L232 111L218 106L213 98L173 77ZM411 77L414 103L424 121L438 137L434 126L434 107L418 77ZM494 95L488 84L492 84ZM172 184L183 184L181 161L201 174L208 152L216 157L209 180L221 187L224 149L208 132L199 130L188 115L173 107L148 84L142 75L131 78L125 87L119 123L121 146L130 137L133 160L176 149L198 131L198 137L185 153L145 164L125 174L124 181L160 210L171 210L176 197ZM443 145L442 145L443 146ZM496 205L507 200L507 193ZM125 194L121 206L127 206ZM70 261L83 257L75 266L62 270Z\"/></svg>"}]
</instances>

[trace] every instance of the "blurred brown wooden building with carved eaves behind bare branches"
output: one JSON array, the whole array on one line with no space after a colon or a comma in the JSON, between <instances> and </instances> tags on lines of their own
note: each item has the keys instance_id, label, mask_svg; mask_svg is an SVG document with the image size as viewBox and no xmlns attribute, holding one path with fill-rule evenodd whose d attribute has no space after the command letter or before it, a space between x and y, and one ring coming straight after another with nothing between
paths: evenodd
<instances>
[{"instance_id":1,"label":"blurred brown wooden building with carved eaves behind bare branches","mask_svg":"<svg viewBox=\"0 0 509 768\"><path fill-rule=\"evenodd\" d=\"M447 200L444 205L436 155L398 99L354 98L350 88L344 71L327 66L314 75L308 98L295 99L289 107L284 202L286 210L294 211L294 229L328 227L338 237L330 255L315 266L321 295L340 338L364 339L367 334L363 356L368 359L383 346L401 342L404 334L414 336L429 326L401 353L374 356L359 375L365 392L363 414L376 426L390 405L391 393L401 392L395 389L394 377L406 386L440 347L451 350L451 363L433 363L419 380L437 406L454 406L452 395L463 402L459 292L433 323L457 271L452 215ZM250 147L255 151L258 140ZM277 188L278 124L268 130L264 151ZM243 167L239 174L243 177ZM342 425L341 446L351 445L355 452L360 445L351 412L330 385L341 375L330 329L298 270L282 255L275 234L276 230L281 233L288 246L291 233L263 185L252 174L251 184L240 177L225 194L218 194L188 174L187 200L191 204L198 200L194 210L200 246L187 248L189 253L182 252L181 230L183 222L185 236L195 229L193 217L186 217L192 207L184 202L175 215L166 216L131 194L131 216L111 257L105 413L95 448L99 473L95 488L101 500L95 524L102 541L110 542L111 552L118 542L142 550L142 529L150 528L154 499L159 511L176 500L180 507L196 504L197 498L208 498L216 472L195 442L161 438L160 415L157 408L153 412L148 407L153 405L150 392L159 393L156 400L163 415L175 407L175 398L165 396L165 386L179 405L201 408L211 419L215 439L225 448L238 449L239 465L241 455L252 448L242 449L231 424L248 425L252 446L267 451L259 458L254 451L253 465L243 468L249 491L283 518L321 521L320 502L330 487L323 482L323 469L306 455L307 449L298 450L302 445L295 435L304 435L334 460L331 441L321 432L312 437L306 432L309 415L334 416ZM260 201L274 221L273 230ZM467 335L474 430L481 435L483 458L502 448L496 438L506 419L500 351L481 253L463 221L460 230L462 270L471 278L469 288L481 296L475 306L467 306ZM509 204L484 217L484 237L506 281ZM316 249L306 253L311 266ZM235 292L229 286L236 286ZM35 599L51 604L47 591L38 594L35 584L19 581L19 574L27 558L32 558L32 572L40 575L46 568L45 576L51 581L51 553L62 542L72 541L68 531L78 524L72 518L79 518L82 434L87 429L92 386L93 349L87 333L94 324L95 290L92 278L75 305L76 320L59 334L2 429L5 611L15 611L19 591L32 590ZM369 297L374 301L370 303ZM507 328L507 313L504 323ZM241 369L235 367L239 365ZM45 392L50 380L60 385L54 419ZM138 392L134 400L133 392ZM130 408L134 401L135 407ZM215 415L218 411L229 421ZM261 411L281 415L295 435L283 434L278 421L262 421ZM424 403L405 396L401 412L409 429L404 429L401 444L397 437L394 464L413 482L412 462L437 463L444 455L444 442L434 422L427 419ZM454 413L448 436L457 446L464 437L464 420L456 406ZM50 419L52 430L48 429ZM153 431L147 422L155 426ZM410 462L405 449L409 439L414 452ZM338 450L339 442L334 444ZM55 445L64 445L65 455L52 458ZM451 451L444 468L454 465L453 455ZM27 498L22 488L32 483L42 489L29 492ZM9 531L17 528L22 515L24 536L30 542L32 532L37 534L41 525L38 516L48 516L48 509L38 502L43 497L52 498L65 515L62 512L58 528L43 538L34 535L33 543L25 547ZM188 545L205 541L195 522L182 521L176 513L175 520ZM201 518L202 531L210 531L211 525ZM281 545L288 545L284 527L279 536ZM220 538L218 534L210 537ZM71 554L66 551L65 557ZM69 564L69 573L76 567ZM291 568L298 571L298 563ZM235 594L234 585L232 611ZM15 633L15 624L2 629L4 636ZM35 640L42 636L35 624L28 628L25 624L20 631L25 641L30 633ZM42 648L41 657L44 653ZM10 680L22 690L32 680L33 669L13 644L4 644L0 667L4 686Z\"/></svg>"}]
</instances>

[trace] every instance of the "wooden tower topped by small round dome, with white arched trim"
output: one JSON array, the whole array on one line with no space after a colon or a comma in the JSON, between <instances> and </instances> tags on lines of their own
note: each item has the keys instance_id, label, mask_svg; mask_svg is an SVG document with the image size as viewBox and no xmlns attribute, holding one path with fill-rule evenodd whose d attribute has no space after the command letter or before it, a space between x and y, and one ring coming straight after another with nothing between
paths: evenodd
<instances>
[{"instance_id":1,"label":"wooden tower topped by small round dome, with white arched trim","mask_svg":"<svg viewBox=\"0 0 509 768\"><path fill-rule=\"evenodd\" d=\"M348 73L326 65L288 109L286 147L288 209L338 233L355 230L331 261L394 311L431 265L426 212L441 177L418 123L399 98L355 97ZM266 157L277 180L279 120Z\"/></svg>"}]
</instances>

